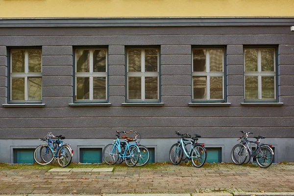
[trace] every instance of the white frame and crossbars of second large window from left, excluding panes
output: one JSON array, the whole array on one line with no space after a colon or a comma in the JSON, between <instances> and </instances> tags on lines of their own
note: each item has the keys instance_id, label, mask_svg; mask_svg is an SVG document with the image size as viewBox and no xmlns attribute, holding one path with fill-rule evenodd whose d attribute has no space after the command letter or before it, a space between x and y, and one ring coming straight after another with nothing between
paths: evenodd
<instances>
[{"instance_id":1,"label":"white frame and crossbars of second large window from left, excluding panes","mask_svg":"<svg viewBox=\"0 0 294 196\"><path fill-rule=\"evenodd\" d=\"M93 53L94 50L104 49L106 51L106 64L105 64L105 71L106 72L93 72ZM76 51L77 50L90 50L90 57L89 57L89 72L76 72ZM76 48L74 49L74 101L75 102L106 102L108 100L108 49L107 48ZM89 99L76 99L77 91L76 91L76 82L77 77L89 77ZM106 84L105 84L105 98L106 99L93 99L93 77L105 77Z\"/></svg>"}]
</instances>

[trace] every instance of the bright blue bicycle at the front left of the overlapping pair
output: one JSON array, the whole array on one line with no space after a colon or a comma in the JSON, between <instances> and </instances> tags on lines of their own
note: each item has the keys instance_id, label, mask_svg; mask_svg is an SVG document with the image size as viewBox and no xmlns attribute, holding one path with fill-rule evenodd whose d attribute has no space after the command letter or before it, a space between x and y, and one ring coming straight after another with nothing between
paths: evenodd
<instances>
[{"instance_id":1,"label":"bright blue bicycle at the front left of the overlapping pair","mask_svg":"<svg viewBox=\"0 0 294 196\"><path fill-rule=\"evenodd\" d=\"M103 160L108 165L114 165L117 163L119 158L122 158L125 161L125 164L129 167L133 167L138 163L140 158L140 150L137 144L129 145L130 141L133 141L132 138L127 136L122 136L126 140L125 148L122 148L120 141L121 133L128 133L126 131L116 131L117 139L114 140L114 144L109 144L103 149Z\"/></svg>"}]
</instances>

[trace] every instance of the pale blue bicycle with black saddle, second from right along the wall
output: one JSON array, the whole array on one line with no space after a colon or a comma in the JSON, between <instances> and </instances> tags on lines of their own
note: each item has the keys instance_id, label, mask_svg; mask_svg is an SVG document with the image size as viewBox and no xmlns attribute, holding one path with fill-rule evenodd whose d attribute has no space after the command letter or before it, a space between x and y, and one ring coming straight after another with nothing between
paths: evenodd
<instances>
[{"instance_id":1,"label":"pale blue bicycle with black saddle, second from right along the wall","mask_svg":"<svg viewBox=\"0 0 294 196\"><path fill-rule=\"evenodd\" d=\"M198 144L197 141L201 137L200 135L195 134L195 137L192 137L188 133L180 134L178 131L175 131L175 134L181 137L177 144L172 145L170 149L170 161L173 165L178 165L182 159L183 154L185 153L186 159L192 160L193 166L200 168L204 165L207 157L207 150L205 149L204 144ZM187 140L185 138L191 138L192 140ZM187 145L191 145L190 150L188 151Z\"/></svg>"}]
</instances>

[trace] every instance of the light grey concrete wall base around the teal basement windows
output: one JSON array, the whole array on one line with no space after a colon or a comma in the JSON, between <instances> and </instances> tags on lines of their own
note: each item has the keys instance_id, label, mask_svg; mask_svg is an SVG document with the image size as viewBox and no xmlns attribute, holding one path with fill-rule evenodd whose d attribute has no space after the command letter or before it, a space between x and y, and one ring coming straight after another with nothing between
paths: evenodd
<instances>
[{"instance_id":1,"label":"light grey concrete wall base around the teal basement windows","mask_svg":"<svg viewBox=\"0 0 294 196\"><path fill-rule=\"evenodd\" d=\"M113 143L114 139L65 139L65 142L71 144L73 149L74 162L80 161L80 148L104 148L107 144ZM294 161L294 143L293 138L266 138L265 144L271 144L274 147L275 162ZM169 161L169 150L172 144L176 143L176 138L169 139L145 139L141 144L155 149L155 162ZM222 162L231 162L232 147L239 142L237 138L201 138L199 143L204 143L205 147L221 147ZM42 144L38 140L0 140L0 162L14 163L14 148L35 148Z\"/></svg>"}]
</instances>

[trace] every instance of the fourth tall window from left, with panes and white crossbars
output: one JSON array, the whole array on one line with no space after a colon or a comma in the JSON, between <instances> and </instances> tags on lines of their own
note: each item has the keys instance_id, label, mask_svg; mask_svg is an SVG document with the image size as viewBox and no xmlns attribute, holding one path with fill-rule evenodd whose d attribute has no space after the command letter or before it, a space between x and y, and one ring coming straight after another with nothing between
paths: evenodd
<instances>
[{"instance_id":1,"label":"fourth tall window from left, with panes and white crossbars","mask_svg":"<svg viewBox=\"0 0 294 196\"><path fill-rule=\"evenodd\" d=\"M193 49L193 100L224 101L224 49Z\"/></svg>"}]
</instances>

